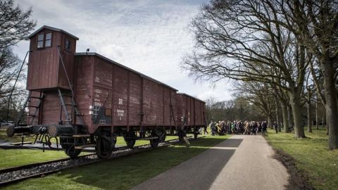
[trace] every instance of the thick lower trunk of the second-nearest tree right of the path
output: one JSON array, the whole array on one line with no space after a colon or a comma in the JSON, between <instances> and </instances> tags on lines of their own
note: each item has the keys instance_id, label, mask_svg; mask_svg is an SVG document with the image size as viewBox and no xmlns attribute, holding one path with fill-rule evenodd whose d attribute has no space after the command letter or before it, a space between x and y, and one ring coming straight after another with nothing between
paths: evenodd
<instances>
[{"instance_id":1,"label":"thick lower trunk of the second-nearest tree right of the path","mask_svg":"<svg viewBox=\"0 0 338 190\"><path fill-rule=\"evenodd\" d=\"M303 125L301 123L301 101L294 94L289 93L292 114L294 115L294 137L305 138Z\"/></svg>"}]
</instances>

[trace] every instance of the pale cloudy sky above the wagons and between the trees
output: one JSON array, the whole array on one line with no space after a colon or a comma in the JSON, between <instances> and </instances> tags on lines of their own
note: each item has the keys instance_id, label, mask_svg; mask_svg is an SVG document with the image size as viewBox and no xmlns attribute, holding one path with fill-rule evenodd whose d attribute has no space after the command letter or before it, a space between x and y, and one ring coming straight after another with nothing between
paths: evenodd
<instances>
[{"instance_id":1,"label":"pale cloudy sky above the wagons and between the trees","mask_svg":"<svg viewBox=\"0 0 338 190\"><path fill-rule=\"evenodd\" d=\"M78 37L76 52L99 53L128 68L168 84L198 99L232 99L231 84L194 82L180 68L184 53L192 52L189 21L207 0L16 0L27 11L32 6L35 30L43 25ZM34 32L34 31L32 31ZM23 59L28 41L13 50Z\"/></svg>"}]
</instances>

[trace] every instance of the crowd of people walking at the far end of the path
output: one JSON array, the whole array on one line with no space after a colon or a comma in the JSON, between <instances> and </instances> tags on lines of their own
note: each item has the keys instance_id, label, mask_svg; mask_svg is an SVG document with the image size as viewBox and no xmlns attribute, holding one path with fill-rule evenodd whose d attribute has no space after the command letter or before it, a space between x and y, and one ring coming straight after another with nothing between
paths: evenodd
<instances>
[{"instance_id":1,"label":"crowd of people walking at the far end of the path","mask_svg":"<svg viewBox=\"0 0 338 190\"><path fill-rule=\"evenodd\" d=\"M268 133L266 130L268 125L266 121L256 122L256 121L241 121L237 120L234 122L230 121L219 121L213 122L204 127L204 134L208 134L207 127L211 128L211 135L215 136L216 134L265 134Z\"/></svg>"}]
</instances>

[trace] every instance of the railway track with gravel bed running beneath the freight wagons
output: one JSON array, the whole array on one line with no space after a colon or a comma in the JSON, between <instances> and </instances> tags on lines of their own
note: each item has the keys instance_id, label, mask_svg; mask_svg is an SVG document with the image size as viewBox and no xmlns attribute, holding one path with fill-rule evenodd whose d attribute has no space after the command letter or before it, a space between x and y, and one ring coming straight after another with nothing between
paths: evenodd
<instances>
[{"instance_id":1,"label":"railway track with gravel bed running beneath the freight wagons","mask_svg":"<svg viewBox=\"0 0 338 190\"><path fill-rule=\"evenodd\" d=\"M201 138L201 137L199 137ZM189 137L189 140L194 138ZM158 144L157 148L169 146L171 144L176 144L178 139L172 139L168 141L164 141ZM110 160L113 158L118 158L120 156L130 155L132 153L139 153L142 151L148 151L154 149L150 144L142 145L142 146L134 146L134 148L128 148L127 146L115 148L112 153L111 158L105 159ZM34 163L30 165L22 165L18 167L6 168L4 170L0 170L0 186L4 186L6 184L13 184L15 182L20 182L25 179L30 179L34 177L44 177L46 175L50 175L55 172L59 172L61 170L68 170L74 167L80 167L83 165L89 165L93 163L99 163L101 160L99 159L95 153L87 154L83 156L79 156L78 158L63 158L58 160L46 161L43 163Z\"/></svg>"}]
</instances>

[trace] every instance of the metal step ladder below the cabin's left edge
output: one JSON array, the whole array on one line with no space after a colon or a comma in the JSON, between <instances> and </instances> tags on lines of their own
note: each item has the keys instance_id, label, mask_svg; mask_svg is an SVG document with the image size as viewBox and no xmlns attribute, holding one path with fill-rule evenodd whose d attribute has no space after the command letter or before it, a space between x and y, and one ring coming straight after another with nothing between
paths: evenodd
<instances>
[{"instance_id":1,"label":"metal step ladder below the cabin's left edge","mask_svg":"<svg viewBox=\"0 0 338 190\"><path fill-rule=\"evenodd\" d=\"M35 105L32 105L32 99L37 99L37 103ZM20 117L18 120L18 126L25 126L25 125L32 125L34 122L34 119L37 117L37 111L39 110L42 100L44 99L44 93L42 91L39 92L39 96L32 96L32 91L28 93L27 99L25 101L25 104L23 106L23 109L20 112ZM27 114L25 114L26 108L34 108L35 110L29 110ZM27 124L24 124L25 122L25 116L30 117L30 122Z\"/></svg>"}]
</instances>

